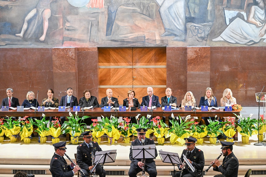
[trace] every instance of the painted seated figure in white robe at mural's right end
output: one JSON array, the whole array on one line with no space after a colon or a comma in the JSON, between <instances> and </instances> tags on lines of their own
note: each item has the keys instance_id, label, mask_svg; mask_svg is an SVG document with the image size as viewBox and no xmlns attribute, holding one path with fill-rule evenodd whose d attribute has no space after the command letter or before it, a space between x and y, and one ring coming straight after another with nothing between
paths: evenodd
<instances>
[{"instance_id":1,"label":"painted seated figure in white robe at mural's right end","mask_svg":"<svg viewBox=\"0 0 266 177\"><path fill-rule=\"evenodd\" d=\"M256 5L250 8L247 21L236 18L223 33L213 41L227 41L231 43L252 45L264 39L266 42L266 0L256 0Z\"/></svg>"}]
</instances>

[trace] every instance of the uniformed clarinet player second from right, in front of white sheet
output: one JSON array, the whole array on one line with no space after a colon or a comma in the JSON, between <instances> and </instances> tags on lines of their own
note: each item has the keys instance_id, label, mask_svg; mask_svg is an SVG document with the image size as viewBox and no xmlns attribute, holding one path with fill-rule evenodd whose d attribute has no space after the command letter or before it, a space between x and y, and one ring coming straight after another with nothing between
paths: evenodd
<instances>
[{"instance_id":1,"label":"uniformed clarinet player second from right, in front of white sheet","mask_svg":"<svg viewBox=\"0 0 266 177\"><path fill-rule=\"evenodd\" d=\"M196 171L192 172L188 166L188 164L185 165L183 171L182 171L182 177L193 177L197 176L199 170L202 172L204 164L205 164L205 159L204 159L204 154L202 150L198 149L195 147L195 142L197 141L196 138L184 138L186 141L186 149L183 150L182 155L180 157L181 162L184 161L183 154L186 156L188 161L192 166L195 167ZM178 165L179 170L182 170L183 164ZM175 174L176 177L180 177L181 171L177 172Z\"/></svg>"}]
</instances>

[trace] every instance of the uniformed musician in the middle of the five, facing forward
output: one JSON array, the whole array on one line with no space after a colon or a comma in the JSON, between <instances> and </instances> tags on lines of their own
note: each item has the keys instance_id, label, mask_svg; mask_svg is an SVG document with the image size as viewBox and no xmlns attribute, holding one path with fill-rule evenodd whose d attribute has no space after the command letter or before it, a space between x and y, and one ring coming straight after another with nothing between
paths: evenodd
<instances>
[{"instance_id":1,"label":"uniformed musician in the middle of the five, facing forward","mask_svg":"<svg viewBox=\"0 0 266 177\"><path fill-rule=\"evenodd\" d=\"M130 146L130 153L129 153L129 159L131 161L130 163L130 169L128 171L129 177L136 177L139 172L142 171L142 167L144 166L144 163L141 162L141 159L133 159L132 157L132 146L140 146L142 145L141 139L144 139L144 145L150 145L155 144L152 139L148 139L145 137L147 129L145 128L138 128L136 129L138 132L138 139L135 139L131 142ZM155 157L158 156L157 149L155 148ZM157 176L157 170L155 161L153 158L147 158L145 159L145 171L149 174L150 177L156 177Z\"/></svg>"}]
</instances>

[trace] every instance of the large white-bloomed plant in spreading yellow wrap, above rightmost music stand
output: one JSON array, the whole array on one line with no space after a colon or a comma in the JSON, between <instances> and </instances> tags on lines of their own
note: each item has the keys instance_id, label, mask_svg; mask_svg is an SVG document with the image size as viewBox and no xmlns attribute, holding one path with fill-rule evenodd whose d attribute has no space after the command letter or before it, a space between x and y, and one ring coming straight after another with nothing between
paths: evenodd
<instances>
[{"instance_id":1,"label":"large white-bloomed plant in spreading yellow wrap, above rightmost music stand","mask_svg":"<svg viewBox=\"0 0 266 177\"><path fill-rule=\"evenodd\" d=\"M171 144L174 144L176 142L179 142L182 145L185 144L184 138L188 138L190 136L190 132L188 130L189 124L194 123L194 121L186 122L189 117L190 115L186 116L185 120L183 121L180 115L178 115L178 117L176 117L175 119L172 113L173 120L169 120L169 122L172 123L172 127L165 136L165 138L168 138L170 136Z\"/></svg>"}]
</instances>

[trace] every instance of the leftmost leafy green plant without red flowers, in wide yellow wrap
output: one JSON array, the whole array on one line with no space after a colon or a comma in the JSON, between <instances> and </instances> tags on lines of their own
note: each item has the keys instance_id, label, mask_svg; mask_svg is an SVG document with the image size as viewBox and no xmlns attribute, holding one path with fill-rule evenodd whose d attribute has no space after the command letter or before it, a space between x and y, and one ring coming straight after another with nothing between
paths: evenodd
<instances>
[{"instance_id":1,"label":"leftmost leafy green plant without red flowers, in wide yellow wrap","mask_svg":"<svg viewBox=\"0 0 266 177\"><path fill-rule=\"evenodd\" d=\"M18 139L18 133L20 132L20 122L12 120L11 117L6 116L6 122L3 123L3 128L5 129L5 135L10 138L10 142L16 142Z\"/></svg>"}]
</instances>

